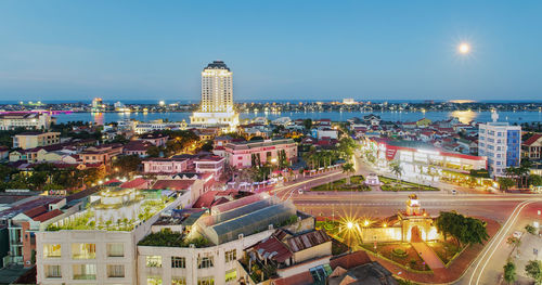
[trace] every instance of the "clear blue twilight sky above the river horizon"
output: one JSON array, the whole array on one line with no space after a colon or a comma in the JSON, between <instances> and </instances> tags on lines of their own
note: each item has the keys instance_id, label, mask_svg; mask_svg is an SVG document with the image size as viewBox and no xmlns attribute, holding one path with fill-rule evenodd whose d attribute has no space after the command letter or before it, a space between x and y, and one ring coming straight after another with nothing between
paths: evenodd
<instances>
[{"instance_id":1,"label":"clear blue twilight sky above the river horizon","mask_svg":"<svg viewBox=\"0 0 542 285\"><path fill-rule=\"evenodd\" d=\"M542 1L0 1L0 101L540 100ZM456 47L472 44L460 56Z\"/></svg>"}]
</instances>

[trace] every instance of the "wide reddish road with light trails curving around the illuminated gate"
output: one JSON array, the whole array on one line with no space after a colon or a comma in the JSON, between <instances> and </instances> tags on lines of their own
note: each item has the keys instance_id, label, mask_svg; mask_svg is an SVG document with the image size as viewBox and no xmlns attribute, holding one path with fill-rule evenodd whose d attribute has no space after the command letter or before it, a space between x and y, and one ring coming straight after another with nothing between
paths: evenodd
<instances>
[{"instance_id":1,"label":"wide reddish road with light trails curving around the illuminated gate","mask_svg":"<svg viewBox=\"0 0 542 285\"><path fill-rule=\"evenodd\" d=\"M359 159L357 159L356 169L357 174L374 172L374 170L364 167ZM274 194L282 199L292 199L298 209L313 216L334 216L336 218L389 217L397 213L398 210L403 210L409 194L412 194L411 192L388 193L376 189L371 192L357 193L306 192L306 190L310 190L313 186L344 177L345 174L340 171L335 171L321 174L318 178L307 178L302 181L278 187ZM532 222L533 219L540 218L537 217L537 210L542 209L542 196L475 193L477 192L469 191L468 189L460 189L460 194L457 195L452 195L446 191L420 192L416 194L418 195L422 208L426 209L431 216L438 216L440 211L456 210L468 216L488 217L502 224L501 230L483 248L478 258L467 269L464 276L455 283L459 285L499 284L502 268L511 255L511 247L506 244L506 238L514 231L521 230L527 223ZM539 241L539 243L542 246L542 242ZM530 250L532 251L532 249ZM521 262L525 263L526 261ZM522 276L525 275L522 273L524 263L521 263L521 268L517 268L520 282L528 280Z\"/></svg>"}]
</instances>

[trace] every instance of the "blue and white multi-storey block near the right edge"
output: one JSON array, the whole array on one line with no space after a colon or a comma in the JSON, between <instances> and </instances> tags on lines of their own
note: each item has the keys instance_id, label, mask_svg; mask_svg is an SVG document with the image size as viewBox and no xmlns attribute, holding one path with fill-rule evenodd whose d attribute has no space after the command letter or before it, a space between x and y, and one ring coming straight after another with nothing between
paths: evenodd
<instances>
[{"instance_id":1,"label":"blue and white multi-storey block near the right edge","mask_svg":"<svg viewBox=\"0 0 542 285\"><path fill-rule=\"evenodd\" d=\"M519 166L521 156L521 127L493 121L479 125L478 155L488 157L488 170L492 177L504 176L507 167Z\"/></svg>"}]
</instances>

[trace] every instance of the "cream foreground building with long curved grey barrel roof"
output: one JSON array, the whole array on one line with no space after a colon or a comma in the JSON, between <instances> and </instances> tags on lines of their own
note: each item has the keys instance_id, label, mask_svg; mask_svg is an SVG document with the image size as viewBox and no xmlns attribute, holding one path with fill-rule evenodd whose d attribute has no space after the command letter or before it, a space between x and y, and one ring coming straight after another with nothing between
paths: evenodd
<instances>
[{"instance_id":1,"label":"cream foreground building with long curved grey barrel roof","mask_svg":"<svg viewBox=\"0 0 542 285\"><path fill-rule=\"evenodd\" d=\"M149 235L138 246L139 284L223 285L238 284L236 260L244 249L280 225L294 232L313 229L314 218L296 211L289 202L260 194L214 206L203 215L181 210L179 218L155 225L170 230ZM157 238L166 236L184 237L184 245Z\"/></svg>"}]
</instances>

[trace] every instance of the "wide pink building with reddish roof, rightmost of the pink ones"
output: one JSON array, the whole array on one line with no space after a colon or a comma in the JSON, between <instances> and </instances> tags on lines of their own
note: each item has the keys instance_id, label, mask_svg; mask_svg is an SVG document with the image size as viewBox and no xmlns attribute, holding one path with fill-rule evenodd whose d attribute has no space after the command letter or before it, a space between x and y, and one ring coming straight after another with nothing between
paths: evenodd
<instances>
[{"instance_id":1,"label":"wide pink building with reddish roof, rightmost of the pink ones","mask_svg":"<svg viewBox=\"0 0 542 285\"><path fill-rule=\"evenodd\" d=\"M297 160L297 144L292 139L276 139L255 142L232 142L225 146L225 156L231 166L250 167L253 156L261 164L275 164L279 152L284 151L289 163Z\"/></svg>"}]
</instances>

